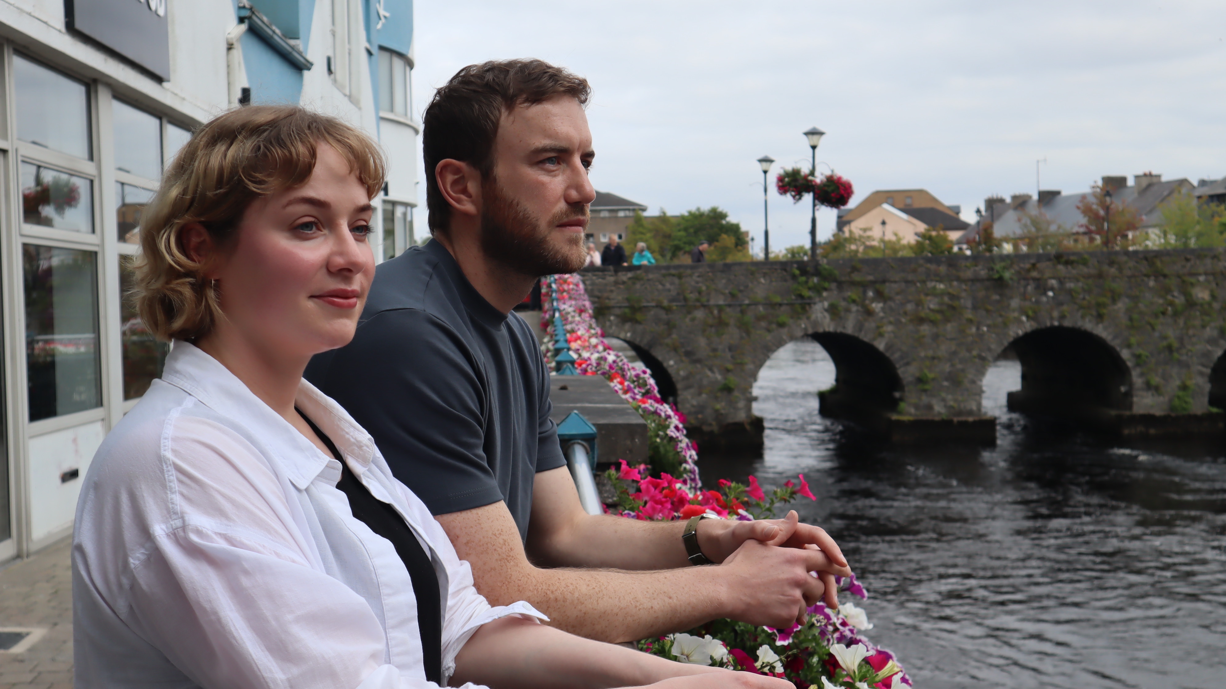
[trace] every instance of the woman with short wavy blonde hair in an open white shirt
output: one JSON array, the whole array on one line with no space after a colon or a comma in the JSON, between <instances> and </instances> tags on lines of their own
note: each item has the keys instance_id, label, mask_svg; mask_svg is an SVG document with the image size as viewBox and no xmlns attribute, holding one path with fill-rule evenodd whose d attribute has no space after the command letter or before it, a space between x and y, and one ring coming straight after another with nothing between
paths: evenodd
<instances>
[{"instance_id":1,"label":"woman with short wavy blonde hair in an open white shirt","mask_svg":"<svg viewBox=\"0 0 1226 689\"><path fill-rule=\"evenodd\" d=\"M302 379L353 336L384 173L365 135L289 105L216 118L167 170L137 282L173 347L82 487L77 687L788 687L490 607L370 435Z\"/></svg>"}]
</instances>

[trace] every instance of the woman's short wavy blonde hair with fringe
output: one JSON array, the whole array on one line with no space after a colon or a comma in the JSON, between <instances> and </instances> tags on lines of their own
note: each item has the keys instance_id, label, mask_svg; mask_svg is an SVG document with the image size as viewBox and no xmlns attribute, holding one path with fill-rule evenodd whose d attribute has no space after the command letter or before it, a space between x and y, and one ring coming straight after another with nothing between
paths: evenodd
<instances>
[{"instance_id":1,"label":"woman's short wavy blonde hair with fringe","mask_svg":"<svg viewBox=\"0 0 1226 689\"><path fill-rule=\"evenodd\" d=\"M336 148L374 199L386 162L369 136L345 121L298 105L248 105L229 110L191 135L141 213L136 304L158 340L196 340L222 318L205 266L181 243L183 228L200 223L215 245L232 246L234 229L253 201L305 184L321 143Z\"/></svg>"}]
</instances>

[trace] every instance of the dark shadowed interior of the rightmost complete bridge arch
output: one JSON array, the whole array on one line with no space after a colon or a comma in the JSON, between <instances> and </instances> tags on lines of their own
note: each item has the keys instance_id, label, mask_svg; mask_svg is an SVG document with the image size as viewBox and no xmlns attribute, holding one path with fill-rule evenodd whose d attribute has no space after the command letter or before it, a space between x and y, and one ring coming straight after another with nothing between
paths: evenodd
<instances>
[{"instance_id":1,"label":"dark shadowed interior of the rightmost complete bridge arch","mask_svg":"<svg viewBox=\"0 0 1226 689\"><path fill-rule=\"evenodd\" d=\"M1031 330L1009 346L1021 364L1010 411L1042 416L1101 416L1133 411L1133 374L1103 337L1068 326Z\"/></svg>"}]
</instances>

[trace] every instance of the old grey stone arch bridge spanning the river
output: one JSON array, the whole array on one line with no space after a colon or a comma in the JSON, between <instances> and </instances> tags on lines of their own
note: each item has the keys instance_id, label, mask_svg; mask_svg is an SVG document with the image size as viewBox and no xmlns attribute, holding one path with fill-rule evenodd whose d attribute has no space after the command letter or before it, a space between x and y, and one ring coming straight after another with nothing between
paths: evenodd
<instances>
[{"instance_id":1,"label":"old grey stone arch bridge spanning the river","mask_svg":"<svg viewBox=\"0 0 1226 689\"><path fill-rule=\"evenodd\" d=\"M1221 250L683 264L582 277L597 322L634 347L709 440L760 438L758 371L802 337L836 367L821 413L895 440L994 438L982 380L1005 351L1022 368L1013 409L1124 435L1222 428Z\"/></svg>"}]
</instances>

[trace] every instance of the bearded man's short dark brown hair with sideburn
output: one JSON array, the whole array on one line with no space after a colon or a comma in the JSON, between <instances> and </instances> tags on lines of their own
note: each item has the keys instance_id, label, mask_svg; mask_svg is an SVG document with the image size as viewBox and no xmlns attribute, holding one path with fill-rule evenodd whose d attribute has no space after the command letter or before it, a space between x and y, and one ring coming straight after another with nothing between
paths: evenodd
<instances>
[{"instance_id":1,"label":"bearded man's short dark brown hair with sideburn","mask_svg":"<svg viewBox=\"0 0 1226 689\"><path fill-rule=\"evenodd\" d=\"M434 177L439 162L450 158L468 163L489 179L494 169L494 139L504 112L555 96L570 96L586 105L591 94L587 80L543 60L492 60L456 72L434 92L422 118L430 234L446 234L451 222L451 205Z\"/></svg>"}]
</instances>

